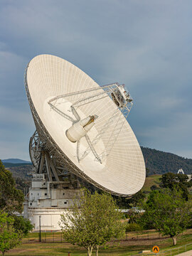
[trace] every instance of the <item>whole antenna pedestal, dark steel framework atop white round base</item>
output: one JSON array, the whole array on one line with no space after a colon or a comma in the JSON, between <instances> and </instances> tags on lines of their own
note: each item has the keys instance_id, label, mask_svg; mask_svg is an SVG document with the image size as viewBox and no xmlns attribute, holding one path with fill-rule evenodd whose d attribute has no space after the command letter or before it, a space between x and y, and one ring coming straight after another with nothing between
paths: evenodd
<instances>
[{"instance_id":1,"label":"whole antenna pedestal, dark steel framework atop white round base","mask_svg":"<svg viewBox=\"0 0 192 256\"><path fill-rule=\"evenodd\" d=\"M31 188L24 203L24 216L42 230L60 230L60 215L73 206L80 194L78 178L53 159L35 132L30 139L29 151L33 163Z\"/></svg>"}]
</instances>

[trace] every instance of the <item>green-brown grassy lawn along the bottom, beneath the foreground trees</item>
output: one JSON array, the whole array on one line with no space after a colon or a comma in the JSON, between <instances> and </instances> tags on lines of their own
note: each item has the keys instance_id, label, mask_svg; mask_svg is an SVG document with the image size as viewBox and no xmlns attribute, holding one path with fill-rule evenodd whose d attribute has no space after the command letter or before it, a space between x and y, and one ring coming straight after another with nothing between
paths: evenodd
<instances>
[{"instance_id":1,"label":"green-brown grassy lawn along the bottom, beneath the foreground trees","mask_svg":"<svg viewBox=\"0 0 192 256\"><path fill-rule=\"evenodd\" d=\"M178 238L178 243L176 247L186 245L188 243L192 243L192 235L190 232L186 232L184 235ZM128 256L128 255L137 255L138 252L142 250L151 250L154 245L159 245L160 252L162 250L170 250L174 249L172 246L172 240L170 238L160 239L160 240L127 240L119 243L111 244L106 249L100 249L100 256ZM179 249L179 252L183 252L185 247ZM192 245L187 247L187 250L192 250ZM6 255L23 255L23 256L68 256L68 252L70 252L71 256L85 256L87 255L87 251L84 248L70 245L67 242L63 243L26 243L23 245L19 245L14 250L10 250L6 253ZM161 255L176 255L178 254L178 249L173 251L172 254L169 252L165 252ZM92 255L95 255L93 252Z\"/></svg>"}]
</instances>

